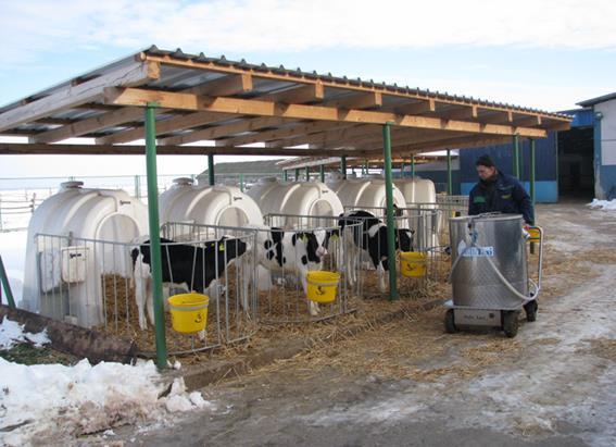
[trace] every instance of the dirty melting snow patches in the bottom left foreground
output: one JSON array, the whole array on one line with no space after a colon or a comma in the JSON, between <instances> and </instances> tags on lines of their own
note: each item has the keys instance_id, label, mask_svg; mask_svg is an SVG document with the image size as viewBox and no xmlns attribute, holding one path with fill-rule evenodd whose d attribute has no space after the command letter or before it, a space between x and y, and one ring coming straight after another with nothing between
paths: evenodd
<instances>
[{"instance_id":1,"label":"dirty melting snow patches in the bottom left foreground","mask_svg":"<svg viewBox=\"0 0 616 447\"><path fill-rule=\"evenodd\" d=\"M47 336L24 333L4 319L0 339L10 347L24 340L42 344ZM0 358L0 444L61 445L83 434L112 436L114 426L127 423L164 422L169 413L214 409L200 393L187 393L181 378L162 396L166 389L152 361L92 365L84 359L73 367L28 367Z\"/></svg>"}]
</instances>

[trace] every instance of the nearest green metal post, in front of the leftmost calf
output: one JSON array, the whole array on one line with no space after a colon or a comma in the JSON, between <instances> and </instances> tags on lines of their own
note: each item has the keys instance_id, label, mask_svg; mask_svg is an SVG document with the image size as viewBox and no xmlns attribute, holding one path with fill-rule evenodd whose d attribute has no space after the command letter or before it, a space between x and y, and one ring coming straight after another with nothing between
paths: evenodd
<instances>
[{"instance_id":1,"label":"nearest green metal post, in front of the leftmost calf","mask_svg":"<svg viewBox=\"0 0 616 447\"><path fill-rule=\"evenodd\" d=\"M148 173L148 216L150 223L150 252L152 258L152 291L154 305L154 327L156 340L156 365L167 368L165 319L163 307L163 265L161 259L161 225L159 222L159 189L156 184L156 119L155 103L146 107L146 164Z\"/></svg>"}]
</instances>

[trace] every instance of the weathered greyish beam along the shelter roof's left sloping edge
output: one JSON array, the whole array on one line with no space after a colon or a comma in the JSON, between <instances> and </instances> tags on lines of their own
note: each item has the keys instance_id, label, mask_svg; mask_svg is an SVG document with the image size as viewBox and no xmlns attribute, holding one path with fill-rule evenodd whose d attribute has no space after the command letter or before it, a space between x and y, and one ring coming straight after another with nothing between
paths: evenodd
<instances>
[{"instance_id":1,"label":"weathered greyish beam along the shelter roof's left sloping edge","mask_svg":"<svg viewBox=\"0 0 616 447\"><path fill-rule=\"evenodd\" d=\"M76 108L96 101L103 96L104 88L115 86L138 86L160 77L160 65L152 62L134 62L105 75L76 86L67 85L45 98L16 107L0 114L0 132L21 124L40 120L62 110Z\"/></svg>"}]
</instances>

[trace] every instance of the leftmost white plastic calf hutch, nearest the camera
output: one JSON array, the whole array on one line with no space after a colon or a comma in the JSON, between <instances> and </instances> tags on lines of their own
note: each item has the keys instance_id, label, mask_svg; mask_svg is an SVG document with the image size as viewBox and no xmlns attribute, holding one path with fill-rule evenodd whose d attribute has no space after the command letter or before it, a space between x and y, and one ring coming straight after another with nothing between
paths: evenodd
<instances>
[{"instance_id":1,"label":"leftmost white plastic calf hutch, nearest the camera","mask_svg":"<svg viewBox=\"0 0 616 447\"><path fill-rule=\"evenodd\" d=\"M130 277L129 253L121 245L147 231L146 206L127 193L62 184L28 226L24 308L85 327L102 324L101 275Z\"/></svg>"}]
</instances>

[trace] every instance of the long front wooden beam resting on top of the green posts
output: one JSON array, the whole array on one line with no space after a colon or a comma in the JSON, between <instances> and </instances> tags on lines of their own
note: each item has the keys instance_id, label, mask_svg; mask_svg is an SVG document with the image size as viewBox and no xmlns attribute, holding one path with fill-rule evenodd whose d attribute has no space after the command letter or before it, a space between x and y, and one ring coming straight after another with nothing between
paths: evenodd
<instances>
[{"instance_id":1,"label":"long front wooden beam resting on top of the green posts","mask_svg":"<svg viewBox=\"0 0 616 447\"><path fill-rule=\"evenodd\" d=\"M460 131L478 134L514 135L542 138L545 131L528 127L513 127L496 124L472 123L456 120L441 120L428 116L400 115L391 112L366 110L340 110L322 105L279 104L272 101L247 100L222 97L200 97L189 94L144 90L139 88L105 88L105 103L121 105L146 105L158 102L163 108L202 110L219 113L238 113L255 116L277 116L293 120L323 120L348 123L392 123L401 127Z\"/></svg>"}]
</instances>

